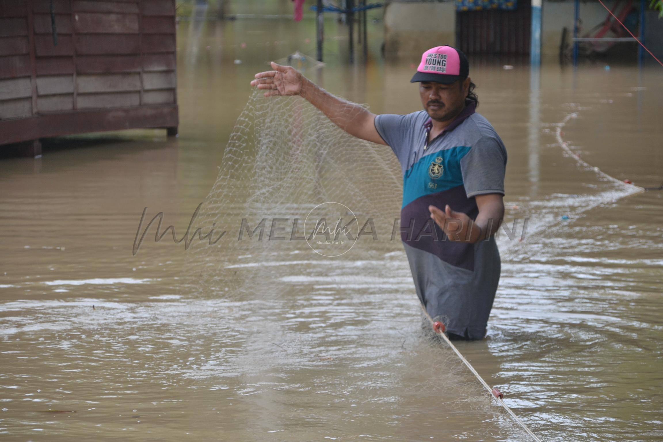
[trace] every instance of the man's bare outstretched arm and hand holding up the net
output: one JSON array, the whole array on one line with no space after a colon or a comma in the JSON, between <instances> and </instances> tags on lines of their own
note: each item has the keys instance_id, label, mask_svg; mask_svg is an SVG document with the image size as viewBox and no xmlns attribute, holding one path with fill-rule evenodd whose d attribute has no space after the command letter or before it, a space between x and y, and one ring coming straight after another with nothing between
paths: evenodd
<instances>
[{"instance_id":1,"label":"man's bare outstretched arm and hand holding up the net","mask_svg":"<svg viewBox=\"0 0 663 442\"><path fill-rule=\"evenodd\" d=\"M362 105L331 95L291 66L272 62L272 71L255 74L252 86L265 89L265 97L300 95L327 115L343 131L363 140L387 144L375 129L375 113Z\"/></svg>"}]
</instances>

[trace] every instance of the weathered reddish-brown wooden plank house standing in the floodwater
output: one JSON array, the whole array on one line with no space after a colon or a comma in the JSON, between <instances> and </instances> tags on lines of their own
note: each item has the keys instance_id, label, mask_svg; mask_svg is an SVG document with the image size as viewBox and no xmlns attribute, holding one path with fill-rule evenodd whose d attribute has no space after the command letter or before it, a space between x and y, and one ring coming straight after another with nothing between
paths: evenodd
<instances>
[{"instance_id":1,"label":"weathered reddish-brown wooden plank house standing in the floodwater","mask_svg":"<svg viewBox=\"0 0 663 442\"><path fill-rule=\"evenodd\" d=\"M0 149L162 128L175 135L174 0L0 0Z\"/></svg>"}]
</instances>

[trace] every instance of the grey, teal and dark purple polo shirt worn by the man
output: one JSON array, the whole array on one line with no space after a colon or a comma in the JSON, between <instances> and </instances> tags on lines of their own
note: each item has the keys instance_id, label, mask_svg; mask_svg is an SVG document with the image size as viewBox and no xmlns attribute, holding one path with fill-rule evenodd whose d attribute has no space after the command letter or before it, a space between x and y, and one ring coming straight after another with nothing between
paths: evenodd
<instances>
[{"instance_id":1,"label":"grey, teal and dark purple polo shirt worn by the man","mask_svg":"<svg viewBox=\"0 0 663 442\"><path fill-rule=\"evenodd\" d=\"M375 128L402 168L401 240L419 300L450 333L481 339L501 271L497 244L492 237L475 244L450 241L430 218L428 206L444 210L449 204L476 219L475 195L504 195L507 150L469 101L449 127L427 142L430 127L426 111L375 118Z\"/></svg>"}]
</instances>

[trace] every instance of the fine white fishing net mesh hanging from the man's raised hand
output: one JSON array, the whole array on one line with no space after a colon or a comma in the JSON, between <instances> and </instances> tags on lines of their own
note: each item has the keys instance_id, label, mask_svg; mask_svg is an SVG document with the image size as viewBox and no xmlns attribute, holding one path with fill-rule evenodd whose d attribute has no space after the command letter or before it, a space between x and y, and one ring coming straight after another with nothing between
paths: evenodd
<instances>
[{"instance_id":1,"label":"fine white fishing net mesh hanging from the man's raised hand","mask_svg":"<svg viewBox=\"0 0 663 442\"><path fill-rule=\"evenodd\" d=\"M392 235L401 188L388 146L348 135L301 97L255 92L196 217L202 235L214 231L190 245L188 286L230 299L278 296L272 276L279 262L304 253L307 262L324 262L402 250Z\"/></svg>"}]
</instances>

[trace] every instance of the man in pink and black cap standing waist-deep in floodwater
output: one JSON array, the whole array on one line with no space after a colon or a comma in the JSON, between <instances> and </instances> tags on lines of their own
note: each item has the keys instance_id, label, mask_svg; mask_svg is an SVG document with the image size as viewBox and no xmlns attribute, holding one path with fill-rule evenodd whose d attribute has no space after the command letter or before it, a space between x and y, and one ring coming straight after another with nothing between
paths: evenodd
<instances>
[{"instance_id":1,"label":"man in pink and black cap standing waist-deep in floodwater","mask_svg":"<svg viewBox=\"0 0 663 442\"><path fill-rule=\"evenodd\" d=\"M403 173L401 239L417 295L450 337L482 339L501 270L491 235L504 216L507 150L475 112L465 54L451 46L424 52L410 81L419 82L425 110L407 115L375 115L290 66L272 68L251 82L266 97L301 95L350 135L391 146Z\"/></svg>"}]
</instances>

